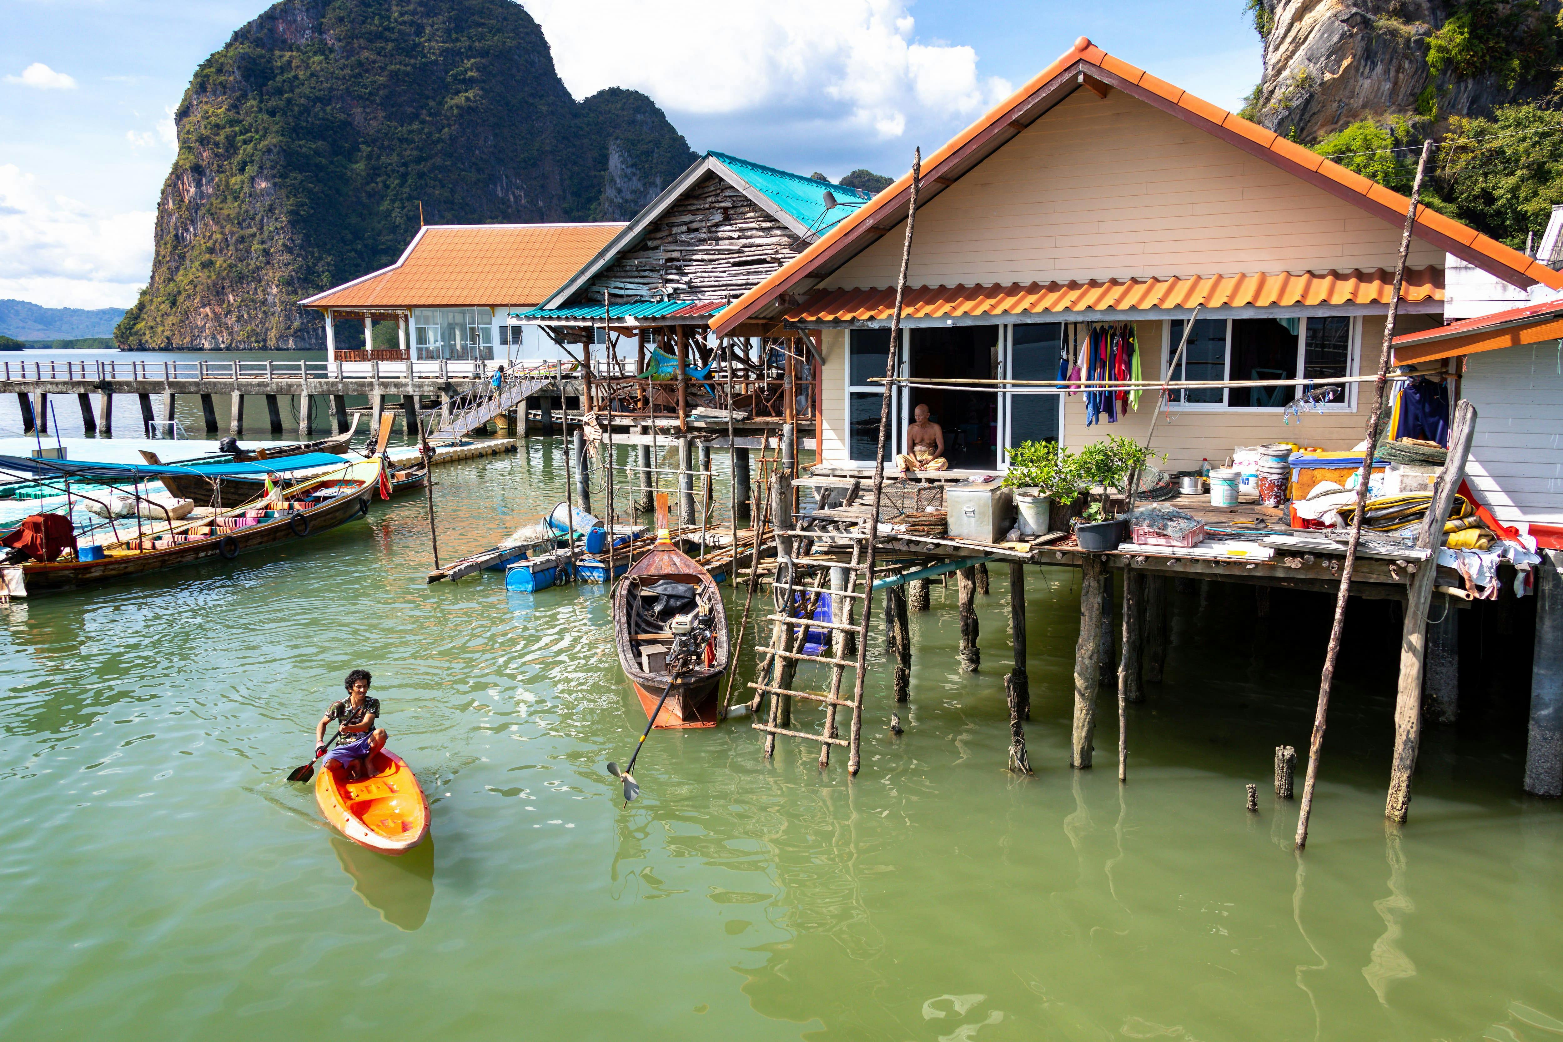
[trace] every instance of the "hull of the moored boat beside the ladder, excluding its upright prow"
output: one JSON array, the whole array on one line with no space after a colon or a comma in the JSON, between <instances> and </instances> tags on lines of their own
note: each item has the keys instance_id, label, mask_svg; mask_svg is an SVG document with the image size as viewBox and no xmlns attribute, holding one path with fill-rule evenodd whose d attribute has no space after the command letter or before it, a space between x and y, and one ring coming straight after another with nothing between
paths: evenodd
<instances>
[{"instance_id":1,"label":"hull of the moored boat beside the ladder, excluding its upright prow","mask_svg":"<svg viewBox=\"0 0 1563 1042\"><path fill-rule=\"evenodd\" d=\"M642 580L688 583L705 594L716 616L708 666L692 669L677 680L667 673L650 673L641 667L636 653L638 642L631 633L630 598L639 597ZM656 720L652 723L653 728L708 728L721 722L722 676L727 673L731 655L722 594L711 575L672 544L658 542L613 587L613 639L619 651L619 667L630 678L647 719L656 712L656 703L672 683L667 701L663 703L661 712L656 712Z\"/></svg>"}]
</instances>

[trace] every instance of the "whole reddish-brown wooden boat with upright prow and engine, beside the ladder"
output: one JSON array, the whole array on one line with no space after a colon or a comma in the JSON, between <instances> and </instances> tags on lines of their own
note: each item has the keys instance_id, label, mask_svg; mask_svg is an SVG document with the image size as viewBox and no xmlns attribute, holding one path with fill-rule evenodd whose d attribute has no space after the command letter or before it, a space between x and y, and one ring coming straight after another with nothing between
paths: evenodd
<instances>
[{"instance_id":1,"label":"whole reddish-brown wooden boat with upright prow and engine, beside the ladder","mask_svg":"<svg viewBox=\"0 0 1563 1042\"><path fill-rule=\"evenodd\" d=\"M656 544L613 587L619 666L652 726L716 726L731 653L722 594L667 533L667 494L658 492Z\"/></svg>"}]
</instances>

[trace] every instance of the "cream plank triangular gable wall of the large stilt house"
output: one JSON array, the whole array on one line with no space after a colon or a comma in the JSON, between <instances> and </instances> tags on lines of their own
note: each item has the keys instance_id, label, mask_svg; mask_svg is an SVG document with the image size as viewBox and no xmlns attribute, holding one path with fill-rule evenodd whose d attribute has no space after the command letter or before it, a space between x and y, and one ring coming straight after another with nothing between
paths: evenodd
<instances>
[{"instance_id":1,"label":"cream plank triangular gable wall of the large stilt house","mask_svg":"<svg viewBox=\"0 0 1563 1042\"><path fill-rule=\"evenodd\" d=\"M894 230L825 287L892 286ZM1113 91L1077 91L917 209L910 284L1393 267L1400 230ZM1443 266L1413 241L1410 264Z\"/></svg>"}]
</instances>

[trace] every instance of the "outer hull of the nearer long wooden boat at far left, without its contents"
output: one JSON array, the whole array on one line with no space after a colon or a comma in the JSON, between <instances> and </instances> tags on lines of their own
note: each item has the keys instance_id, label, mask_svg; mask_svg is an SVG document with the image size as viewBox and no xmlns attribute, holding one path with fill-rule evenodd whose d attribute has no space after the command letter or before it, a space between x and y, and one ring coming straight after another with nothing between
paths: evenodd
<instances>
[{"instance_id":1,"label":"outer hull of the nearer long wooden boat at far left, without its contents","mask_svg":"<svg viewBox=\"0 0 1563 1042\"><path fill-rule=\"evenodd\" d=\"M375 495L380 476L380 461L347 464L341 470L333 470L319 478L302 483L289 491L289 495L308 494L314 486L350 483L356 492L349 489L325 500L319 506L297 511L294 516L281 516L247 528L234 528L224 534L213 534L205 539L173 544L161 550L136 550L130 553L109 553L102 561L56 561L53 564L31 562L22 566L22 576L27 583L28 595L52 594L59 591L100 586L113 580L122 580L147 572L209 561L213 558L233 558L249 550L258 550L278 542L292 542L306 536L314 536L328 528L336 528L345 522L363 517L369 512L369 500ZM219 516L220 517L220 516ZM202 519L211 523L211 519ZM194 528L202 522L191 522L186 528ZM299 530L303 530L300 534ZM231 539L233 542L227 542ZM134 542L134 541L131 541ZM117 548L114 544L109 550Z\"/></svg>"}]
</instances>

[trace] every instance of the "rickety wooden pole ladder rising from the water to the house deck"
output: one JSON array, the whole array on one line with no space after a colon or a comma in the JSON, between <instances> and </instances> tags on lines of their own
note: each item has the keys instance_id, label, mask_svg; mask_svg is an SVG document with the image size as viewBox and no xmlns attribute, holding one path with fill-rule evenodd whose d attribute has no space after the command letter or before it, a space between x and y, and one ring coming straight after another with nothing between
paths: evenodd
<instances>
[{"instance_id":1,"label":"rickety wooden pole ladder rising from the water to the house deck","mask_svg":"<svg viewBox=\"0 0 1563 1042\"><path fill-rule=\"evenodd\" d=\"M775 520L777 572L772 580L775 614L771 622L771 644L760 648L760 681L749 686L763 695L771 695L771 712L752 726L763 731L764 755L775 753L778 734L819 742L819 765L830 764L833 745L847 747L847 773L858 773L863 758L863 681L867 659L867 631L872 617L872 551L874 525L866 531L828 533L832 541L852 544L850 561L799 559L792 553L792 541L799 537L819 539L825 533L794 531L792 484L786 473L777 475L771 489L771 516ZM872 517L871 517L872 522ZM821 597L830 595L832 619L816 620L814 611ZM861 603L861 614L853 614ZM811 630L830 634L830 655L803 655ZM808 691L796 686L800 662L817 662L830 667L830 684L825 691ZM847 670L853 672L852 694L842 697ZM814 701L825 708L821 728L802 731L792 726L792 700ZM850 737L841 737L836 725L839 709L852 711Z\"/></svg>"}]
</instances>

